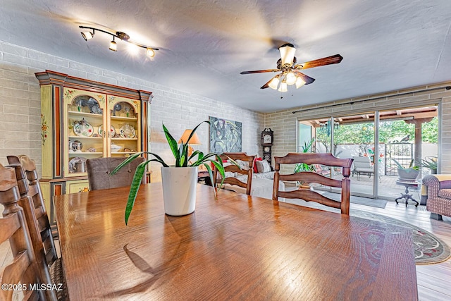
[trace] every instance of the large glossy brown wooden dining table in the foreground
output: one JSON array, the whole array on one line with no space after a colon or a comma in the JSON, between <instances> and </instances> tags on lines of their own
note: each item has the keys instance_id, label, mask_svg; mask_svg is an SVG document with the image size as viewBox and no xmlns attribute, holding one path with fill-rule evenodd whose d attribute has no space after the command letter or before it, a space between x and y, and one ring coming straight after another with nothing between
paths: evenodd
<instances>
[{"instance_id":1,"label":"large glossy brown wooden dining table in the foreground","mask_svg":"<svg viewBox=\"0 0 451 301\"><path fill-rule=\"evenodd\" d=\"M176 189L176 188L174 188ZM75 300L417 300L412 231L197 185L187 216L161 183L54 197Z\"/></svg>"}]
</instances>

